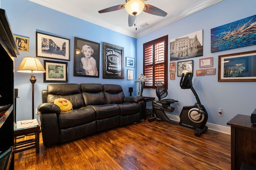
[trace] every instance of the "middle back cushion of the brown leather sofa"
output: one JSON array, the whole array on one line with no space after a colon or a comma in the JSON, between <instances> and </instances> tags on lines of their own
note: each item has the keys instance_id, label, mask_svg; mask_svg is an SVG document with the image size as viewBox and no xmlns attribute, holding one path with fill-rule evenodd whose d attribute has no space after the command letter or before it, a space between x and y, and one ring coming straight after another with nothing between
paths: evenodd
<instances>
[{"instance_id":1,"label":"middle back cushion of the brown leather sofa","mask_svg":"<svg viewBox=\"0 0 256 170\"><path fill-rule=\"evenodd\" d=\"M106 104L102 84L80 84L80 86L86 106Z\"/></svg>"}]
</instances>

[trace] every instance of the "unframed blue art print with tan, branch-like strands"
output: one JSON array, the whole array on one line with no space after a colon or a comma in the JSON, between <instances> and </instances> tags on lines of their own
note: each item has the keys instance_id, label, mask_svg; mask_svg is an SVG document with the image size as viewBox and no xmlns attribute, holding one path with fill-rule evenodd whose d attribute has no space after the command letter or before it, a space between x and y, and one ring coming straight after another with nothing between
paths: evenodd
<instances>
[{"instance_id":1,"label":"unframed blue art print with tan, branch-like strands","mask_svg":"<svg viewBox=\"0 0 256 170\"><path fill-rule=\"evenodd\" d=\"M211 29L211 52L256 44L256 15Z\"/></svg>"}]
</instances>

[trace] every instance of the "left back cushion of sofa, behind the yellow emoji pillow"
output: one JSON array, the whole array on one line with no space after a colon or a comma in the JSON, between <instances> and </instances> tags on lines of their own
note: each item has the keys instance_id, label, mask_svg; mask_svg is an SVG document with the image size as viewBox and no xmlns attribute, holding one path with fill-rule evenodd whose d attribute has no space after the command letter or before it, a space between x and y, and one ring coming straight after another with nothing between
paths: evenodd
<instances>
[{"instance_id":1,"label":"left back cushion of sofa, behind the yellow emoji pillow","mask_svg":"<svg viewBox=\"0 0 256 170\"><path fill-rule=\"evenodd\" d=\"M73 109L85 106L79 84L48 84L47 91L47 102L54 103L54 100L64 98L72 103Z\"/></svg>"}]
</instances>

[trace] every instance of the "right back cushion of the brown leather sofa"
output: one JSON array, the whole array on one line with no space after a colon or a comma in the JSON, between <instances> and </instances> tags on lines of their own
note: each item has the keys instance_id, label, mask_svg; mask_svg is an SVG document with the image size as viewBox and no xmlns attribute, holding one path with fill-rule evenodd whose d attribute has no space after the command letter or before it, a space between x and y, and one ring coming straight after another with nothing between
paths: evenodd
<instances>
[{"instance_id":1,"label":"right back cushion of the brown leather sofa","mask_svg":"<svg viewBox=\"0 0 256 170\"><path fill-rule=\"evenodd\" d=\"M122 86L115 84L103 84L102 87L108 104L120 104L124 102Z\"/></svg>"}]
</instances>

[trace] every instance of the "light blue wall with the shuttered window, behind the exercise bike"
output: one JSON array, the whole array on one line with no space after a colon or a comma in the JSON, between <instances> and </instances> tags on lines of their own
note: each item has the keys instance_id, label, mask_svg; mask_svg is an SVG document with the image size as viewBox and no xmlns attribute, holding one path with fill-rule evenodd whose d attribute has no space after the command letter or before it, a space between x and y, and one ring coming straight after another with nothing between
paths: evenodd
<instances>
[{"instance_id":1,"label":"light blue wall with the shuttered window, behind the exercise bike","mask_svg":"<svg viewBox=\"0 0 256 170\"><path fill-rule=\"evenodd\" d=\"M255 14L255 0L224 0L214 6L210 6L182 20L171 23L157 31L138 38L137 56L143 56L143 43L164 35L168 35L170 41L170 39L203 29L203 56L192 58L194 60L193 87L198 93L201 103L208 111L208 122L227 126L226 123L235 115L250 115L256 108L256 82L218 82L218 55L256 50L256 45L211 53L210 29ZM168 44L168 49L170 49L169 47L170 45ZM168 55L168 57L170 57L170 54ZM216 74L196 76L195 71L199 69L199 59L211 56L213 57L213 67L216 68ZM143 65L143 61L140 58L137 58L137 65ZM143 72L142 67L137 68L137 73L140 72ZM172 113L179 115L183 106L194 105L196 99L191 90L182 90L180 88L180 77L177 77L177 72L175 74L175 80L170 80L170 76L168 75L168 92L170 98L179 100L178 104L175 105L175 111ZM144 89L143 95L156 97L155 90L152 89ZM223 117L218 116L218 108L223 109Z\"/></svg>"}]
</instances>

